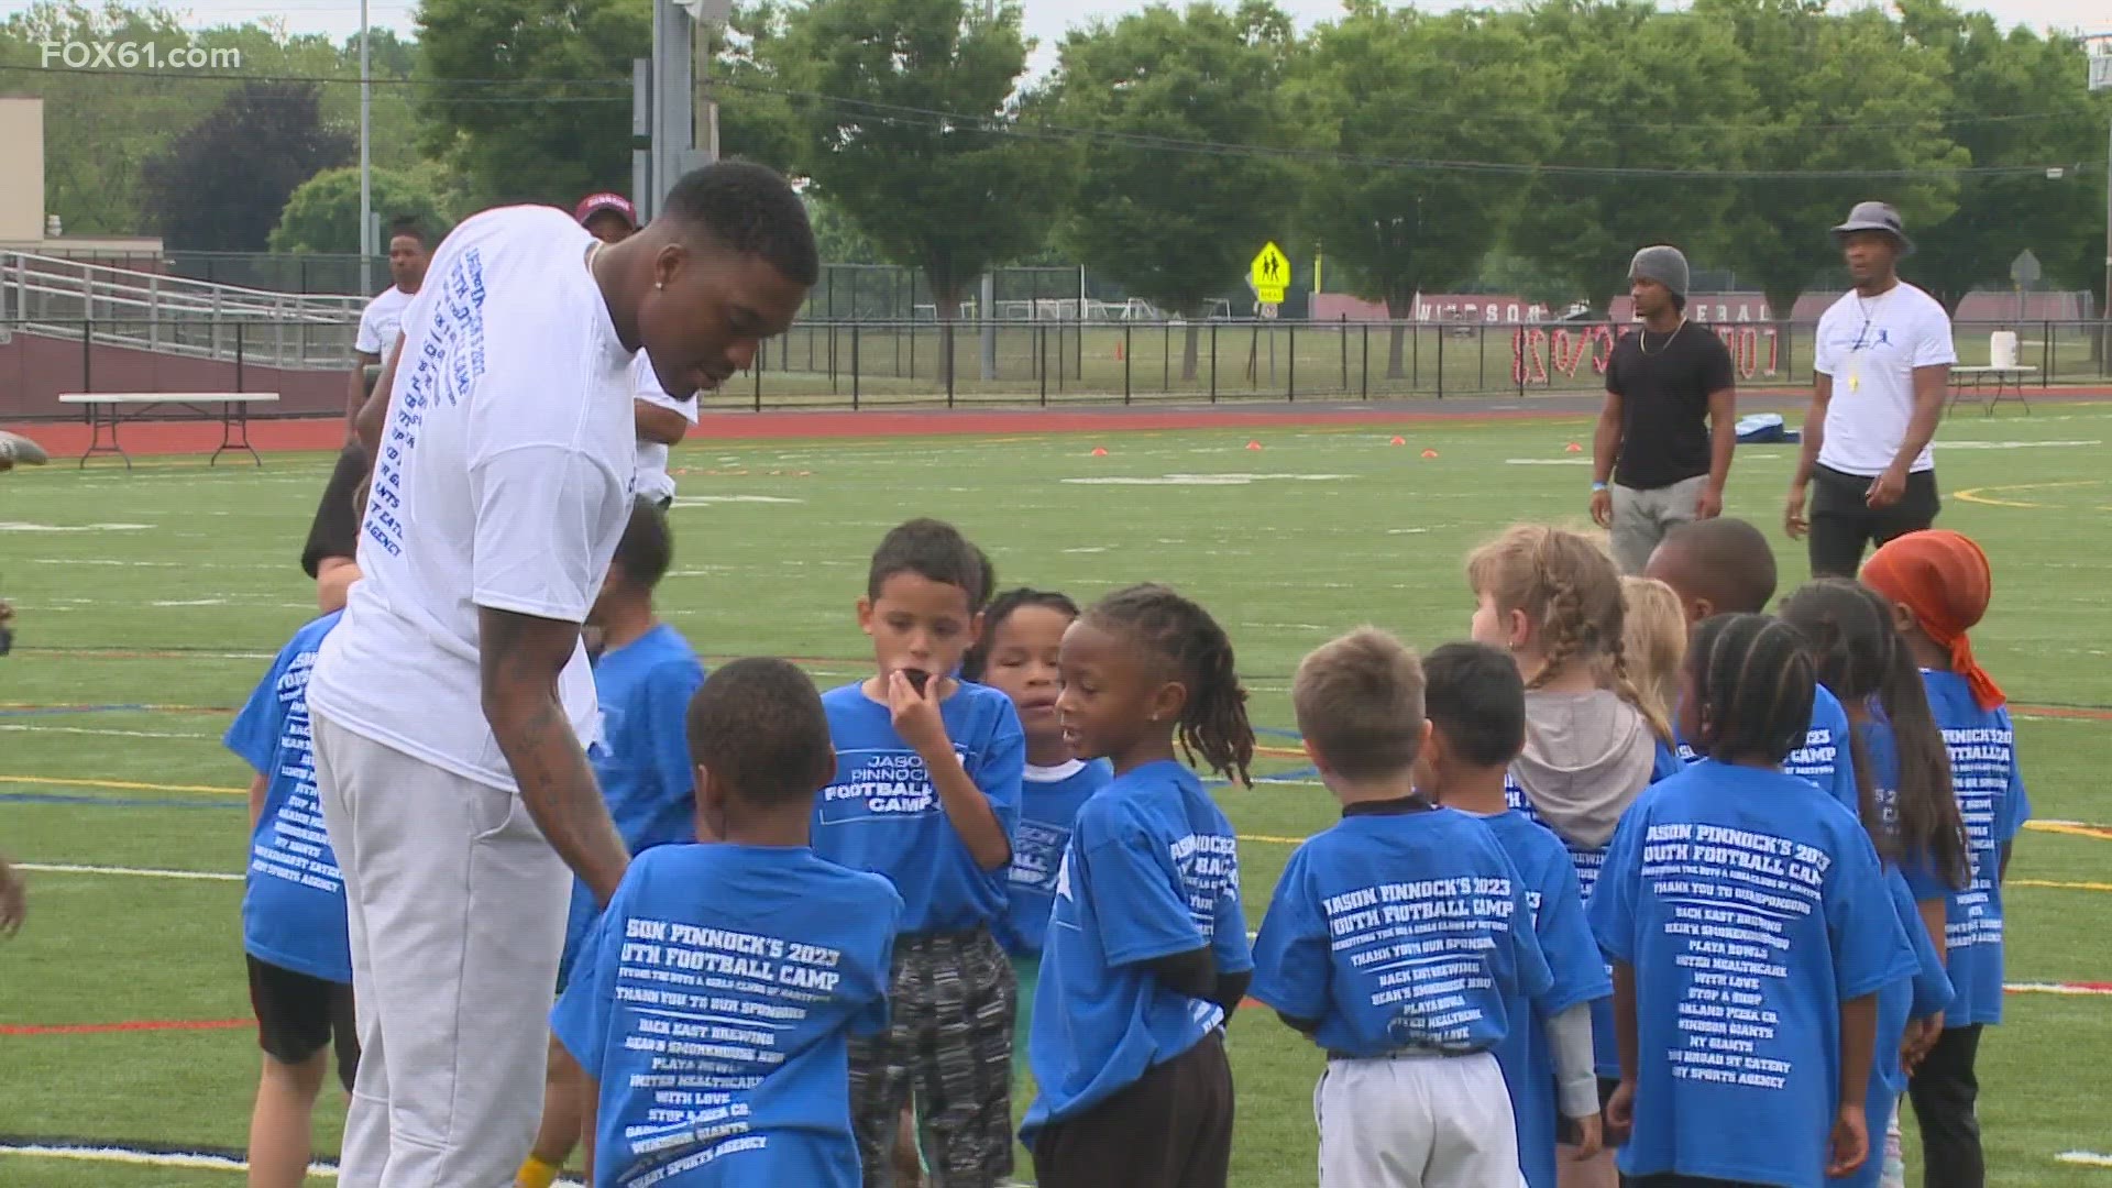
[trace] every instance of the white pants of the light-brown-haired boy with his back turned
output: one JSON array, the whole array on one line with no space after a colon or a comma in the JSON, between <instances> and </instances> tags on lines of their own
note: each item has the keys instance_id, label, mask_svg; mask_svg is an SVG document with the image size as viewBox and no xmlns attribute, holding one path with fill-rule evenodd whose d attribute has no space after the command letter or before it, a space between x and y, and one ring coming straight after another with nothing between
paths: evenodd
<instances>
[{"instance_id":1,"label":"white pants of the light-brown-haired boy with his back turned","mask_svg":"<svg viewBox=\"0 0 2112 1188\"><path fill-rule=\"evenodd\" d=\"M1510 1091L1489 1053L1331 1059L1314 1120L1320 1188L1525 1188Z\"/></svg>"}]
</instances>

